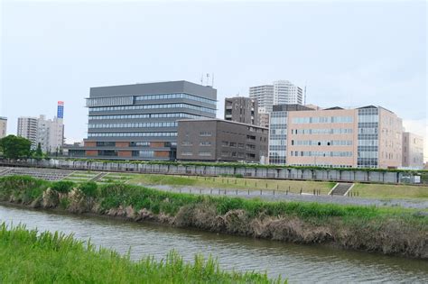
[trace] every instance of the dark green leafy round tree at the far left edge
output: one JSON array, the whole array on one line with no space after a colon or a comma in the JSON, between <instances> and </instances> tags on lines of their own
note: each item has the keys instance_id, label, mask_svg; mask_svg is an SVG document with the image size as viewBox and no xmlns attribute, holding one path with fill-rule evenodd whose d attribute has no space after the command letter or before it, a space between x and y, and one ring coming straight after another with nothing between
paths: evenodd
<instances>
[{"instance_id":1,"label":"dark green leafy round tree at the far left edge","mask_svg":"<svg viewBox=\"0 0 428 284\"><path fill-rule=\"evenodd\" d=\"M30 140L15 135L7 135L0 139L0 148L7 159L28 158L31 146Z\"/></svg>"}]
</instances>

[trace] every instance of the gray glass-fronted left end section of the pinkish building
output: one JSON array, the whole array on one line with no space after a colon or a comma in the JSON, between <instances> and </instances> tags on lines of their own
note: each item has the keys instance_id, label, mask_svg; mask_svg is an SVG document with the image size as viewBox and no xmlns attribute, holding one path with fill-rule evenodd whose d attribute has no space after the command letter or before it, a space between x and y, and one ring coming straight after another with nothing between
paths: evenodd
<instances>
[{"instance_id":1,"label":"gray glass-fronted left end section of the pinkish building","mask_svg":"<svg viewBox=\"0 0 428 284\"><path fill-rule=\"evenodd\" d=\"M304 105L274 105L269 121L269 163L287 163L288 112L313 110Z\"/></svg>"}]
</instances>

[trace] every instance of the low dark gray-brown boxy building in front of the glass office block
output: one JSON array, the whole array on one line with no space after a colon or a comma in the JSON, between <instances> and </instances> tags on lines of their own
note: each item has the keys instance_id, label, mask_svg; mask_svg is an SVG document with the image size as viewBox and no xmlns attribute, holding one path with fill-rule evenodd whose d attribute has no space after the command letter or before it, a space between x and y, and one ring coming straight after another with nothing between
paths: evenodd
<instances>
[{"instance_id":1,"label":"low dark gray-brown boxy building in front of the glass office block","mask_svg":"<svg viewBox=\"0 0 428 284\"><path fill-rule=\"evenodd\" d=\"M268 129L221 119L181 120L177 159L265 162Z\"/></svg>"}]
</instances>

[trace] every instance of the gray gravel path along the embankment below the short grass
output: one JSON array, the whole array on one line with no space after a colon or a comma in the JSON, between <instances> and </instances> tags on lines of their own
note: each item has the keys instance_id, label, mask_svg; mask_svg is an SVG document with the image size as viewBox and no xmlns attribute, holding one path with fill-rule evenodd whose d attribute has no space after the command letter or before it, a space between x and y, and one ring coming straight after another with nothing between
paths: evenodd
<instances>
[{"instance_id":1,"label":"gray gravel path along the embankment below the short grass","mask_svg":"<svg viewBox=\"0 0 428 284\"><path fill-rule=\"evenodd\" d=\"M428 200L406 200L406 199L373 199L363 197L340 197L340 196L313 196L312 194L296 194L276 190L242 190L230 188L194 188L194 187L174 187L168 185L144 185L150 188L157 188L163 191L205 194L213 196L228 196L228 197L259 197L268 201L303 201L303 202L318 202L318 203L335 203L341 205L358 205L358 206L401 206L404 208L428 209Z\"/></svg>"}]
</instances>

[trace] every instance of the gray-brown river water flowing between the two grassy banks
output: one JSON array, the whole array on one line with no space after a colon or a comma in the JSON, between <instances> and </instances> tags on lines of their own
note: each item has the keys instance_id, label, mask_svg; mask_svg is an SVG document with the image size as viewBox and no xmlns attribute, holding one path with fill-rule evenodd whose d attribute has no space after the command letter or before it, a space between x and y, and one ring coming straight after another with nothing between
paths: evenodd
<instances>
[{"instance_id":1,"label":"gray-brown river water flowing between the two grassy banks","mask_svg":"<svg viewBox=\"0 0 428 284\"><path fill-rule=\"evenodd\" d=\"M0 222L74 234L84 241L90 238L92 243L116 252L126 253L131 249L134 260L147 255L161 260L172 249L180 252L186 261L192 261L195 253L211 254L219 259L223 269L266 271L270 277L282 275L291 283L428 282L428 261L326 246L256 240L14 206L0 206Z\"/></svg>"}]
</instances>

